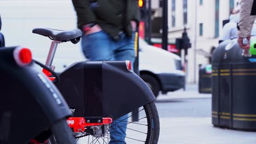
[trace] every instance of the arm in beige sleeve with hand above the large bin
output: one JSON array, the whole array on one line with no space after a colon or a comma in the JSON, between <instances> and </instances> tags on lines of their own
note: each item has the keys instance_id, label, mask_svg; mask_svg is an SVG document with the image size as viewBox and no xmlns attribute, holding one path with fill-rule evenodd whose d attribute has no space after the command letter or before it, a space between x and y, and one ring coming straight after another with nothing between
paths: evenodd
<instances>
[{"instance_id":1,"label":"arm in beige sleeve with hand above the large bin","mask_svg":"<svg viewBox=\"0 0 256 144\"><path fill-rule=\"evenodd\" d=\"M253 27L253 22L256 16L251 15L252 5L254 0L242 0L240 9L240 19L238 22L238 39L237 42L242 49L248 50L249 43L243 45L242 39L246 38L248 41L251 38L251 32Z\"/></svg>"}]
</instances>

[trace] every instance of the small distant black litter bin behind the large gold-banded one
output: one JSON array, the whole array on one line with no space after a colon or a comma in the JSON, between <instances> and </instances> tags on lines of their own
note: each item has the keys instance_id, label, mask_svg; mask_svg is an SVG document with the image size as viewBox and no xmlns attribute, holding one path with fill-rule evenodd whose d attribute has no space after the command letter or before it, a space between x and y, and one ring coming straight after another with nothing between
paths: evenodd
<instances>
[{"instance_id":1,"label":"small distant black litter bin behind the large gold-banded one","mask_svg":"<svg viewBox=\"0 0 256 144\"><path fill-rule=\"evenodd\" d=\"M199 93L211 93L212 92L212 65L199 65Z\"/></svg>"}]
</instances>

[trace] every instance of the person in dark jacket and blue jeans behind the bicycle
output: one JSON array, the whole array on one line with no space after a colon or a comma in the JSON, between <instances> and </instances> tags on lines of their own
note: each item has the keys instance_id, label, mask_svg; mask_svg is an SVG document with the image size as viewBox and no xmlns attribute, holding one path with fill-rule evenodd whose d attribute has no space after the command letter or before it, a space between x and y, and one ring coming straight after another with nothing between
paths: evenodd
<instances>
[{"instance_id":1,"label":"person in dark jacket and blue jeans behind the bicycle","mask_svg":"<svg viewBox=\"0 0 256 144\"><path fill-rule=\"evenodd\" d=\"M90 61L135 61L135 31L139 23L137 0L72 0L82 49ZM121 97L121 95L120 95ZM110 144L126 143L128 115L113 121Z\"/></svg>"}]
</instances>

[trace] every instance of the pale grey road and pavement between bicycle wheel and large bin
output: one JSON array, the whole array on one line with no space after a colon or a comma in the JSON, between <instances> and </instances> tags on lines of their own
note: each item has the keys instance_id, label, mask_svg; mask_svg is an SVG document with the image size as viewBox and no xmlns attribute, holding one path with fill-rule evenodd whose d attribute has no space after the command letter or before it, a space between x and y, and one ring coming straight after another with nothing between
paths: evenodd
<instances>
[{"instance_id":1,"label":"pale grey road and pavement between bicycle wheel and large bin","mask_svg":"<svg viewBox=\"0 0 256 144\"><path fill-rule=\"evenodd\" d=\"M256 132L213 127L211 94L199 94L197 85L159 95L160 144L256 143Z\"/></svg>"}]
</instances>

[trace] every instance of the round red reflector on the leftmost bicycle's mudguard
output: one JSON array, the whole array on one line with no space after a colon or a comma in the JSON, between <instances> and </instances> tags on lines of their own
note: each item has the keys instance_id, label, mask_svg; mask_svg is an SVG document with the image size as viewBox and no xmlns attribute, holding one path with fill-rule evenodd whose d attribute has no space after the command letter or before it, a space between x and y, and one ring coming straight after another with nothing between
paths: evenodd
<instances>
[{"instance_id":1,"label":"round red reflector on the leftmost bicycle's mudguard","mask_svg":"<svg viewBox=\"0 0 256 144\"><path fill-rule=\"evenodd\" d=\"M28 65L32 62L32 53L30 49L18 47L13 52L16 63L20 66Z\"/></svg>"}]
</instances>

